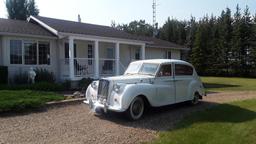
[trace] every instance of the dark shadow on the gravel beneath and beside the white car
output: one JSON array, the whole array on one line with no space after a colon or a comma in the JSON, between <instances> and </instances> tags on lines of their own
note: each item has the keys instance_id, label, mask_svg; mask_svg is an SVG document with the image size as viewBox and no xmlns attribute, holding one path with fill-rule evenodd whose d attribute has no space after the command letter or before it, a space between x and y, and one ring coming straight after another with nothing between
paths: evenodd
<instances>
[{"instance_id":1,"label":"dark shadow on the gravel beneath and beside the white car","mask_svg":"<svg viewBox=\"0 0 256 144\"><path fill-rule=\"evenodd\" d=\"M184 116L213 105L216 105L216 103L202 101L195 106L184 102L163 107L150 107L146 109L143 117L137 121L130 121L126 118L124 113L115 112L97 115L97 117L128 127L163 131L172 128L174 124L180 121Z\"/></svg>"}]
</instances>

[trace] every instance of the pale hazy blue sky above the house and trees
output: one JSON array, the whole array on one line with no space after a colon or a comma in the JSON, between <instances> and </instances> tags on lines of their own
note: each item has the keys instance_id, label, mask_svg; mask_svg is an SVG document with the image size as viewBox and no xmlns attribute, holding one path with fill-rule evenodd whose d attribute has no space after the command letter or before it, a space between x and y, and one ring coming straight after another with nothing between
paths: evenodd
<instances>
[{"instance_id":1,"label":"pale hazy blue sky above the house and trees","mask_svg":"<svg viewBox=\"0 0 256 144\"><path fill-rule=\"evenodd\" d=\"M77 20L78 13L86 23L110 25L145 19L152 23L152 0L35 0L41 16ZM157 0L157 22L162 25L168 17L179 20L200 18L205 14L219 15L236 4L243 9L249 6L256 13L256 0ZM5 0L0 0L0 17L7 17Z\"/></svg>"}]
</instances>

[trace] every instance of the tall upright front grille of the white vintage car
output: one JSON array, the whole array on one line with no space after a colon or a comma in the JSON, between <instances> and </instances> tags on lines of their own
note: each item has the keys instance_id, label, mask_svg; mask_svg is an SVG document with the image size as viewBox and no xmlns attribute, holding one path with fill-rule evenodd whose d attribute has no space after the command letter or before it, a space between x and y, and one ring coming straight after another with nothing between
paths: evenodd
<instances>
[{"instance_id":1,"label":"tall upright front grille of the white vintage car","mask_svg":"<svg viewBox=\"0 0 256 144\"><path fill-rule=\"evenodd\" d=\"M108 90L109 90L109 81L104 79L99 80L97 100L100 103L103 103L104 100L105 101L107 100Z\"/></svg>"}]
</instances>

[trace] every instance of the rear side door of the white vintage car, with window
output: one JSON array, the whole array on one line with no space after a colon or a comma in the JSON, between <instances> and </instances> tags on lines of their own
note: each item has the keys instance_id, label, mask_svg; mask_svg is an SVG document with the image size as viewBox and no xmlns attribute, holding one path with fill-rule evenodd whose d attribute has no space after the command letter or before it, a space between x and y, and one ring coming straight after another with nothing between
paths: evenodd
<instances>
[{"instance_id":1,"label":"rear side door of the white vintage car, with window","mask_svg":"<svg viewBox=\"0 0 256 144\"><path fill-rule=\"evenodd\" d=\"M174 69L176 102L187 101L189 100L189 85L193 80L193 68L186 64L175 64Z\"/></svg>"}]
</instances>

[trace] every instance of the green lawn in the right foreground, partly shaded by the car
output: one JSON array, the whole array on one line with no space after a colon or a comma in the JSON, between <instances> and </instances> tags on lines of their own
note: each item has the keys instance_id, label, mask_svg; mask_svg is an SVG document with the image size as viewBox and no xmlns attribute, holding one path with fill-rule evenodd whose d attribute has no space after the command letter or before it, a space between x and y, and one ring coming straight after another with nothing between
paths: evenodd
<instances>
[{"instance_id":1,"label":"green lawn in the right foreground, partly shaded by the car","mask_svg":"<svg viewBox=\"0 0 256 144\"><path fill-rule=\"evenodd\" d=\"M185 117L175 129L160 132L154 144L256 143L256 99L221 104Z\"/></svg>"}]
</instances>

